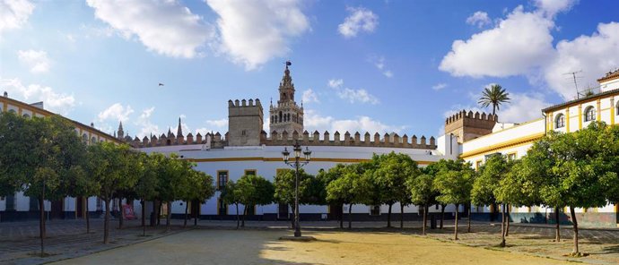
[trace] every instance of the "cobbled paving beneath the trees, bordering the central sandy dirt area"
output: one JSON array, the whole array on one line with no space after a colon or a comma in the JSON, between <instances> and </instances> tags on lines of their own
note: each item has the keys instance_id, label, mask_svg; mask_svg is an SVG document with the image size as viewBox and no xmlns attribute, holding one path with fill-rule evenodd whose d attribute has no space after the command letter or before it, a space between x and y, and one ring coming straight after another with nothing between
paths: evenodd
<instances>
[{"instance_id":1,"label":"cobbled paving beneath the trees, bordering the central sandy dirt area","mask_svg":"<svg viewBox=\"0 0 619 265\"><path fill-rule=\"evenodd\" d=\"M58 261L100 252L127 244L136 244L161 236L173 235L187 229L235 229L236 221L200 220L193 227L193 220L183 228L183 220L172 220L170 232L164 232L165 221L161 220L158 228L147 227L146 234L141 236L142 228L139 221L126 221L123 229L117 229L118 221L110 221L110 244L102 244L103 222L100 218L92 219L91 234L85 233L85 221L52 220L47 224L46 252L52 254L47 258L39 258L39 222L6 222L0 223L0 263L8 264L39 264L48 261ZM466 233L466 219L459 222L459 244L477 247L501 249L500 224L474 222L472 231ZM453 220L446 220L443 229L429 229L428 236L441 241L451 241L453 237ZM337 230L336 221L302 222L305 230ZM289 221L246 221L245 229L289 229ZM353 230L379 231L385 233L404 233L421 236L420 222L405 222L405 228L399 228L399 222L394 222L393 228L385 228L386 222L353 222ZM344 222L344 227L347 223ZM345 229L345 228L344 228ZM563 254L571 252L571 227L563 226L562 242L554 243L554 227L545 225L511 224L508 247L501 249L508 252L526 252L555 259L569 259ZM580 229L580 251L588 253L588 257L572 259L594 264L619 264L619 229Z\"/></svg>"}]
</instances>

